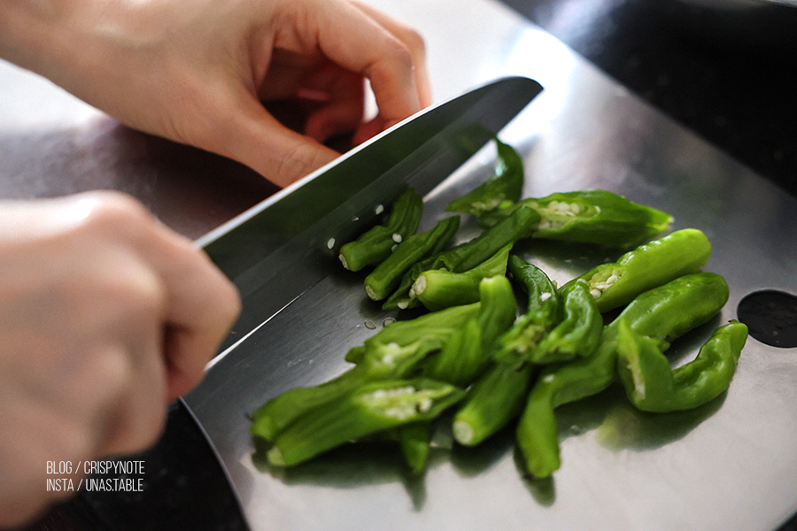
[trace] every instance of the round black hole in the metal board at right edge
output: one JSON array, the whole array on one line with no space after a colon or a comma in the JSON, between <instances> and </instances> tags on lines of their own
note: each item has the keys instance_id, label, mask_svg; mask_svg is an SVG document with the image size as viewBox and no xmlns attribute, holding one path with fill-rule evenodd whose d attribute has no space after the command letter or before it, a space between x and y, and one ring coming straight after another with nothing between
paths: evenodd
<instances>
[{"instance_id":1,"label":"round black hole in the metal board at right edge","mask_svg":"<svg viewBox=\"0 0 797 531\"><path fill-rule=\"evenodd\" d=\"M754 291L737 307L739 321L754 339L773 347L797 347L797 296L777 289Z\"/></svg>"}]
</instances>

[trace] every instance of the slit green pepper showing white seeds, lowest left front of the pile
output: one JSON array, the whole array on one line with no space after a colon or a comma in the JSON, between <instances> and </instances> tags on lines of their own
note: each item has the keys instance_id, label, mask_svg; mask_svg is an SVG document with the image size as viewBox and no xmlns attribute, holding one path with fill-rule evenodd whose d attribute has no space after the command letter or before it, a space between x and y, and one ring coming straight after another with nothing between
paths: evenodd
<instances>
[{"instance_id":1,"label":"slit green pepper showing white seeds, lowest left front of the pile","mask_svg":"<svg viewBox=\"0 0 797 531\"><path fill-rule=\"evenodd\" d=\"M275 466L294 466L343 443L431 420L460 401L464 391L424 379L378 381L302 413L267 452Z\"/></svg>"}]
</instances>

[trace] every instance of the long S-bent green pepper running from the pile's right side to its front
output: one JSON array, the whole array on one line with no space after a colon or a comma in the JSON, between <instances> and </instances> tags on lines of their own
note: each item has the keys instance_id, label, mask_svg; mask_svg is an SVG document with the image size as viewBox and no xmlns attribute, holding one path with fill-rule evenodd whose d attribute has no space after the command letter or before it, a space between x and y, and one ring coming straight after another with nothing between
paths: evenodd
<instances>
[{"instance_id":1,"label":"long S-bent green pepper running from the pile's right side to its front","mask_svg":"<svg viewBox=\"0 0 797 531\"><path fill-rule=\"evenodd\" d=\"M727 300L728 284L718 274L685 275L635 298L604 328L591 357L544 368L532 386L516 432L529 472L547 477L561 465L554 408L600 393L617 380L622 323L666 350L677 337L716 315Z\"/></svg>"}]
</instances>

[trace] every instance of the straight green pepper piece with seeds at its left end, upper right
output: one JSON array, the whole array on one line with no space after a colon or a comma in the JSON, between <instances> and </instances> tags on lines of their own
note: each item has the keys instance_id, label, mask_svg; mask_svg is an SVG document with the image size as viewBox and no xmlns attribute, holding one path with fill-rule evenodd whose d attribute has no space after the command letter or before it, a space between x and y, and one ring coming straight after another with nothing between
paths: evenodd
<instances>
[{"instance_id":1,"label":"straight green pepper piece with seeds at its left end, upper right","mask_svg":"<svg viewBox=\"0 0 797 531\"><path fill-rule=\"evenodd\" d=\"M711 243L700 230L685 228L625 253L579 276L589 282L600 312L628 304L638 294L708 263Z\"/></svg>"}]
</instances>

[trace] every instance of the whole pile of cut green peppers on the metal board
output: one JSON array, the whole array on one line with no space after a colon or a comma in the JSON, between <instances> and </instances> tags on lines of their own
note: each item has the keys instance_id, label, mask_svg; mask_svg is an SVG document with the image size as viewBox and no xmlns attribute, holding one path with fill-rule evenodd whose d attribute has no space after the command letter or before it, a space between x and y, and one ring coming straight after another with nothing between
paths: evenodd
<instances>
[{"instance_id":1,"label":"whole pile of cut green peppers on the metal board","mask_svg":"<svg viewBox=\"0 0 797 531\"><path fill-rule=\"evenodd\" d=\"M451 246L457 216L416 234L421 198L407 190L384 225L341 249L352 271L373 267L364 281L369 298L429 312L349 350L353 366L336 379L291 389L253 412L251 434L273 466L384 439L398 442L410 469L422 473L434 423L450 423L464 446L515 423L523 466L544 478L561 466L561 404L617 384L641 411L674 412L728 389L745 325L717 328L676 369L665 355L728 300L723 278L701 271L711 255L706 235L687 228L651 241L669 228L669 214L604 190L521 200L522 161L496 143L496 174L449 205L476 216L481 235ZM516 242L536 237L627 252L557 286L512 254ZM515 288L525 294L521 311Z\"/></svg>"}]
</instances>

